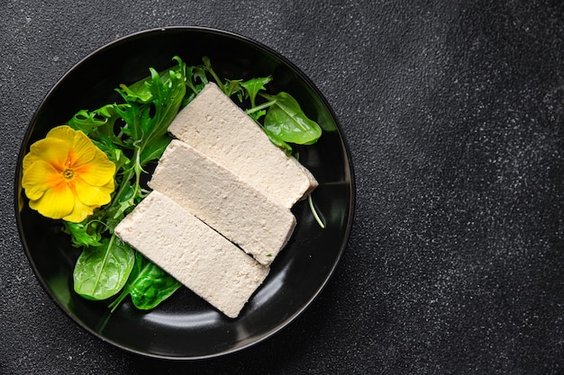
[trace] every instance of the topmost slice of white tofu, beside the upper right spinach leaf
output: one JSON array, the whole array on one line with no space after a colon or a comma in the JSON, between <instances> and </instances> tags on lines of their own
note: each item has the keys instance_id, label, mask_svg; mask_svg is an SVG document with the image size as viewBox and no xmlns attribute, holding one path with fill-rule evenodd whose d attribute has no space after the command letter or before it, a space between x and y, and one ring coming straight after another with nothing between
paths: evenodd
<instances>
[{"instance_id":1,"label":"topmost slice of white tofu, beside the upper right spinach leaf","mask_svg":"<svg viewBox=\"0 0 564 375\"><path fill-rule=\"evenodd\" d=\"M213 83L177 114L168 131L288 209L318 184Z\"/></svg>"}]
</instances>

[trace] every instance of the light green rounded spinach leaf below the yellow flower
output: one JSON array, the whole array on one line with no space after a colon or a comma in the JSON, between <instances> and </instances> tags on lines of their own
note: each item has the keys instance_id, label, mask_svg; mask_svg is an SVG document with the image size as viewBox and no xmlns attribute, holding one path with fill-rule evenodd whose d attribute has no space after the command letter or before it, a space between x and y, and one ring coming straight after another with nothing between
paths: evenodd
<instances>
[{"instance_id":1,"label":"light green rounded spinach leaf below the yellow flower","mask_svg":"<svg viewBox=\"0 0 564 375\"><path fill-rule=\"evenodd\" d=\"M86 247L73 272L75 291L86 299L108 299L119 292L132 272L135 252L118 237Z\"/></svg>"}]
</instances>

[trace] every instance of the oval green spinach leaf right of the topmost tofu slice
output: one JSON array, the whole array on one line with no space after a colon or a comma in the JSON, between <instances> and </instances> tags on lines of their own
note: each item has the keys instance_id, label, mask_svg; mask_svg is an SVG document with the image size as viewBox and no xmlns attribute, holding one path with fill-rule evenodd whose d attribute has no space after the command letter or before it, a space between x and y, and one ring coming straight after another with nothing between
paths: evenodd
<instances>
[{"instance_id":1,"label":"oval green spinach leaf right of the topmost tofu slice","mask_svg":"<svg viewBox=\"0 0 564 375\"><path fill-rule=\"evenodd\" d=\"M321 137L322 129L317 122L305 116L305 113L290 94L281 92L268 95L275 103L268 108L264 118L264 128L268 134L284 142L298 145L311 145Z\"/></svg>"}]
</instances>

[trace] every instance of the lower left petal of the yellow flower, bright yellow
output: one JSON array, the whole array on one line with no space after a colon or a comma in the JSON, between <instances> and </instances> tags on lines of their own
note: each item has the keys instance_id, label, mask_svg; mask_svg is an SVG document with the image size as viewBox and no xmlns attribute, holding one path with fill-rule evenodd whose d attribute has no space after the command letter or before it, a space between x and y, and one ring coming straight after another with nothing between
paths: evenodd
<instances>
[{"instance_id":1,"label":"lower left petal of the yellow flower, bright yellow","mask_svg":"<svg viewBox=\"0 0 564 375\"><path fill-rule=\"evenodd\" d=\"M39 200L30 201L30 207L51 219L62 219L72 212L75 196L64 181L46 190Z\"/></svg>"}]
</instances>

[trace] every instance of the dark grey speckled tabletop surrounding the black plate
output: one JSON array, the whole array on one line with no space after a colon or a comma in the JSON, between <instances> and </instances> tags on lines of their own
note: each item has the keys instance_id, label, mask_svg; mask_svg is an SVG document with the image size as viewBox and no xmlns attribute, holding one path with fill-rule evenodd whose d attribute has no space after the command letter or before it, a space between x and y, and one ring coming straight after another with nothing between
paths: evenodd
<instances>
[{"instance_id":1,"label":"dark grey speckled tabletop surrounding the black plate","mask_svg":"<svg viewBox=\"0 0 564 375\"><path fill-rule=\"evenodd\" d=\"M0 373L564 373L561 1L0 11ZM320 297L267 341L211 361L143 358L86 333L42 290L14 219L16 156L50 87L105 43L172 25L241 33L303 69L341 121L357 179L349 246Z\"/></svg>"}]
</instances>

